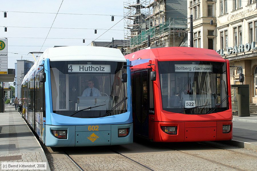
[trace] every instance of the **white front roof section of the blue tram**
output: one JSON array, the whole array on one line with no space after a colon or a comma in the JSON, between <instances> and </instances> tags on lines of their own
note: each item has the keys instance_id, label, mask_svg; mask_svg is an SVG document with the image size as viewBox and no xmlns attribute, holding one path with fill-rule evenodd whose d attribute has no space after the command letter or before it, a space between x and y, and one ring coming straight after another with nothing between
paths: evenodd
<instances>
[{"instance_id":1,"label":"white front roof section of the blue tram","mask_svg":"<svg viewBox=\"0 0 257 171\"><path fill-rule=\"evenodd\" d=\"M50 61L115 61L126 62L119 49L98 46L62 46L45 50L43 59Z\"/></svg>"}]
</instances>

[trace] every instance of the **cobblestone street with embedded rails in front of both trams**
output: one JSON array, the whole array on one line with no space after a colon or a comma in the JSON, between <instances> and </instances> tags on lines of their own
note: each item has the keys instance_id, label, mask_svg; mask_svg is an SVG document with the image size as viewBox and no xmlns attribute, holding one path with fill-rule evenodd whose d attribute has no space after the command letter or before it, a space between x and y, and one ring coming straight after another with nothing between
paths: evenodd
<instances>
[{"instance_id":1,"label":"cobblestone street with embedded rails in front of both trams","mask_svg":"<svg viewBox=\"0 0 257 171\"><path fill-rule=\"evenodd\" d=\"M216 142L47 149L51 170L79 170L64 151L83 170L257 170L256 151Z\"/></svg>"}]
</instances>

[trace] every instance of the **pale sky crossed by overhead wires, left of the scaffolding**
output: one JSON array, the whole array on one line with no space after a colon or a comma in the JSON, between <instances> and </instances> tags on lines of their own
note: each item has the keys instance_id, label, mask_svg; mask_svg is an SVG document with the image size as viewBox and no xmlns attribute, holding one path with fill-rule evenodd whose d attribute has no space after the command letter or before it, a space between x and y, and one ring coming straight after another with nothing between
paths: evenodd
<instances>
[{"instance_id":1,"label":"pale sky crossed by overhead wires, left of the scaffolding","mask_svg":"<svg viewBox=\"0 0 257 171\"><path fill-rule=\"evenodd\" d=\"M0 38L8 38L9 69L15 69L21 56L35 61L29 52L44 52L53 46L90 46L111 27L95 41L124 39L123 0L0 0L0 4Z\"/></svg>"}]
</instances>

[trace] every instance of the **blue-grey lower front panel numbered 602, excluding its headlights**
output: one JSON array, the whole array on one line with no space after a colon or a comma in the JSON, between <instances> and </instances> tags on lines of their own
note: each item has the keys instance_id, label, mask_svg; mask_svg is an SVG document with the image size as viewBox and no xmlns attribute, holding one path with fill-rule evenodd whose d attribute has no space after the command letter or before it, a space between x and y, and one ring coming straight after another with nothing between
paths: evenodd
<instances>
[{"instance_id":1,"label":"blue-grey lower front panel numbered 602, excluding its headlights","mask_svg":"<svg viewBox=\"0 0 257 171\"><path fill-rule=\"evenodd\" d=\"M133 125L46 125L46 146L103 146L133 143ZM128 129L128 134L119 137L118 129ZM52 130L67 130L67 139L58 139Z\"/></svg>"}]
</instances>

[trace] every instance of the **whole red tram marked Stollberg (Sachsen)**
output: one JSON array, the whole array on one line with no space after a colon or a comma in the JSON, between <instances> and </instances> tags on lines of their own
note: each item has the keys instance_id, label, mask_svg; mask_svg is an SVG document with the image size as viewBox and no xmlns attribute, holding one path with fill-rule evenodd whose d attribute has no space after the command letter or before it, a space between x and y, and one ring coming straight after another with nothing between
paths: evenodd
<instances>
[{"instance_id":1,"label":"whole red tram marked Stollberg (Sachsen)","mask_svg":"<svg viewBox=\"0 0 257 171\"><path fill-rule=\"evenodd\" d=\"M229 62L214 50L148 48L131 61L134 135L154 142L232 139Z\"/></svg>"}]
</instances>

